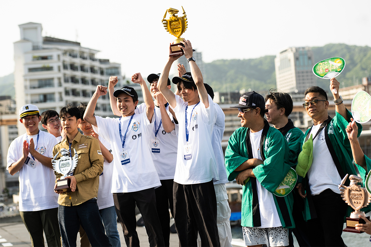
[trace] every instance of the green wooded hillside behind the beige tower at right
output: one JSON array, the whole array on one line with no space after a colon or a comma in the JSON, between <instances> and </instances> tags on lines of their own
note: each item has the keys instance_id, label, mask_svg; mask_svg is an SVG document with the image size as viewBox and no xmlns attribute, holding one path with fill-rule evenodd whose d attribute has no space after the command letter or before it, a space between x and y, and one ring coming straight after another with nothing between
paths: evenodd
<instances>
[{"instance_id":1,"label":"green wooded hillside behind the beige tower at right","mask_svg":"<svg viewBox=\"0 0 371 247\"><path fill-rule=\"evenodd\" d=\"M342 57L345 60L345 69L338 77L341 87L360 84L362 77L371 73L371 48L368 46L327 44L323 47L312 47L312 51L316 63L329 57ZM204 81L209 83L214 91L267 91L276 88L275 57L216 60L206 63ZM317 85L327 88L328 80L317 78Z\"/></svg>"}]
</instances>

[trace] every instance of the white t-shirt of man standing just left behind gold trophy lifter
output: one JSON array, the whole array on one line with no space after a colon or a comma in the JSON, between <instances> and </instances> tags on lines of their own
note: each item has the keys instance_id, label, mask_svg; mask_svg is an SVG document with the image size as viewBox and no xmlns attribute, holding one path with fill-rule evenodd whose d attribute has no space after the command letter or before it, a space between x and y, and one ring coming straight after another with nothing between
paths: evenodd
<instances>
[{"instance_id":1,"label":"white t-shirt of man standing just left behind gold trophy lifter","mask_svg":"<svg viewBox=\"0 0 371 247\"><path fill-rule=\"evenodd\" d=\"M137 106L137 109L135 109L135 113L145 113L146 108L146 104L142 103ZM174 123L173 115L171 115L168 107L166 107L166 112ZM155 106L154 115L156 122L150 136L150 141L148 142L152 160L155 164L160 180L174 179L175 165L177 163L178 124L174 123L175 129L170 133L166 133L164 127L161 124L160 129L157 132L156 143L154 143L155 132L157 131L161 121L160 107ZM154 144L156 145L156 147L154 147ZM152 148L154 148L154 151L156 151L156 153L152 152ZM160 149L159 153L157 152L157 149Z\"/></svg>"}]
</instances>

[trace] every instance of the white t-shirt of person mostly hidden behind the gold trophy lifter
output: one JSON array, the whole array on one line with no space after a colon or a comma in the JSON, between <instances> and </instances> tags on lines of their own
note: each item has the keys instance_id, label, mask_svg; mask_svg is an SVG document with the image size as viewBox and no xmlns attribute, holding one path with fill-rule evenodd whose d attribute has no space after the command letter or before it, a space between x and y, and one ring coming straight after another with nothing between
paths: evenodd
<instances>
[{"instance_id":1,"label":"white t-shirt of person mostly hidden behind the gold trophy lifter","mask_svg":"<svg viewBox=\"0 0 371 247\"><path fill-rule=\"evenodd\" d=\"M214 124L213 132L211 133L211 144L213 145L214 155L216 159L216 165L218 169L219 181L214 182L214 184L225 184L228 183L228 177L226 172L226 167L224 165L224 154L221 148L221 141L223 140L224 128L225 128L225 118L223 110L217 103L214 103L217 117Z\"/></svg>"}]
</instances>

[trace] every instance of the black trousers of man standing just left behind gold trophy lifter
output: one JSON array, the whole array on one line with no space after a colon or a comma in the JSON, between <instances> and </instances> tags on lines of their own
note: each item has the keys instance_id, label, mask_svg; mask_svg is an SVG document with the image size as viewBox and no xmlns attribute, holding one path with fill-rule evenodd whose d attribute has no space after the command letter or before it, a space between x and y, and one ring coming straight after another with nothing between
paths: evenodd
<instances>
[{"instance_id":1,"label":"black trousers of man standing just left behind gold trophy lifter","mask_svg":"<svg viewBox=\"0 0 371 247\"><path fill-rule=\"evenodd\" d=\"M165 246L170 246L170 214L174 216L173 184L174 179L160 180L161 186L155 188L156 208L158 218L160 218L162 236Z\"/></svg>"}]
</instances>

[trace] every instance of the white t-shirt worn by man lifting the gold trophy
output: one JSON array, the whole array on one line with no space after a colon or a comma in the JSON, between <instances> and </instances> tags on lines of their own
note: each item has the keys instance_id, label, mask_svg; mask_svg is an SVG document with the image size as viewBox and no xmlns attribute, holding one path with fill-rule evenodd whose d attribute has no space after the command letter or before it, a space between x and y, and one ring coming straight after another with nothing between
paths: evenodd
<instances>
[{"instance_id":1,"label":"white t-shirt worn by man lifting the gold trophy","mask_svg":"<svg viewBox=\"0 0 371 247\"><path fill-rule=\"evenodd\" d=\"M175 95L177 105L174 108L179 123L177 167L175 168L174 182L179 184L198 184L219 180L211 132L217 113L213 100L209 96L209 108L200 103L188 106L178 95ZM191 158L185 160L185 109L187 109L187 129L189 131L188 153ZM191 152L189 151L191 149Z\"/></svg>"}]
</instances>

